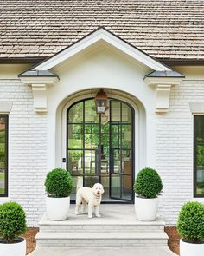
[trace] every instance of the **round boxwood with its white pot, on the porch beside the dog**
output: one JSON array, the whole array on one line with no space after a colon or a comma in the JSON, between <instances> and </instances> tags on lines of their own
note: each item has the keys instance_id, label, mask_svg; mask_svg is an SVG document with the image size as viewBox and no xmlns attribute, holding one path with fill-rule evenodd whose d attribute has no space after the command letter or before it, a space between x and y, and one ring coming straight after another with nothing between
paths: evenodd
<instances>
[{"instance_id":1,"label":"round boxwood with its white pot, on the porch beside the dog","mask_svg":"<svg viewBox=\"0 0 204 256\"><path fill-rule=\"evenodd\" d=\"M49 220L66 220L70 207L73 179L65 169L56 168L49 172L45 181L47 201L46 213Z\"/></svg>"}]
</instances>

